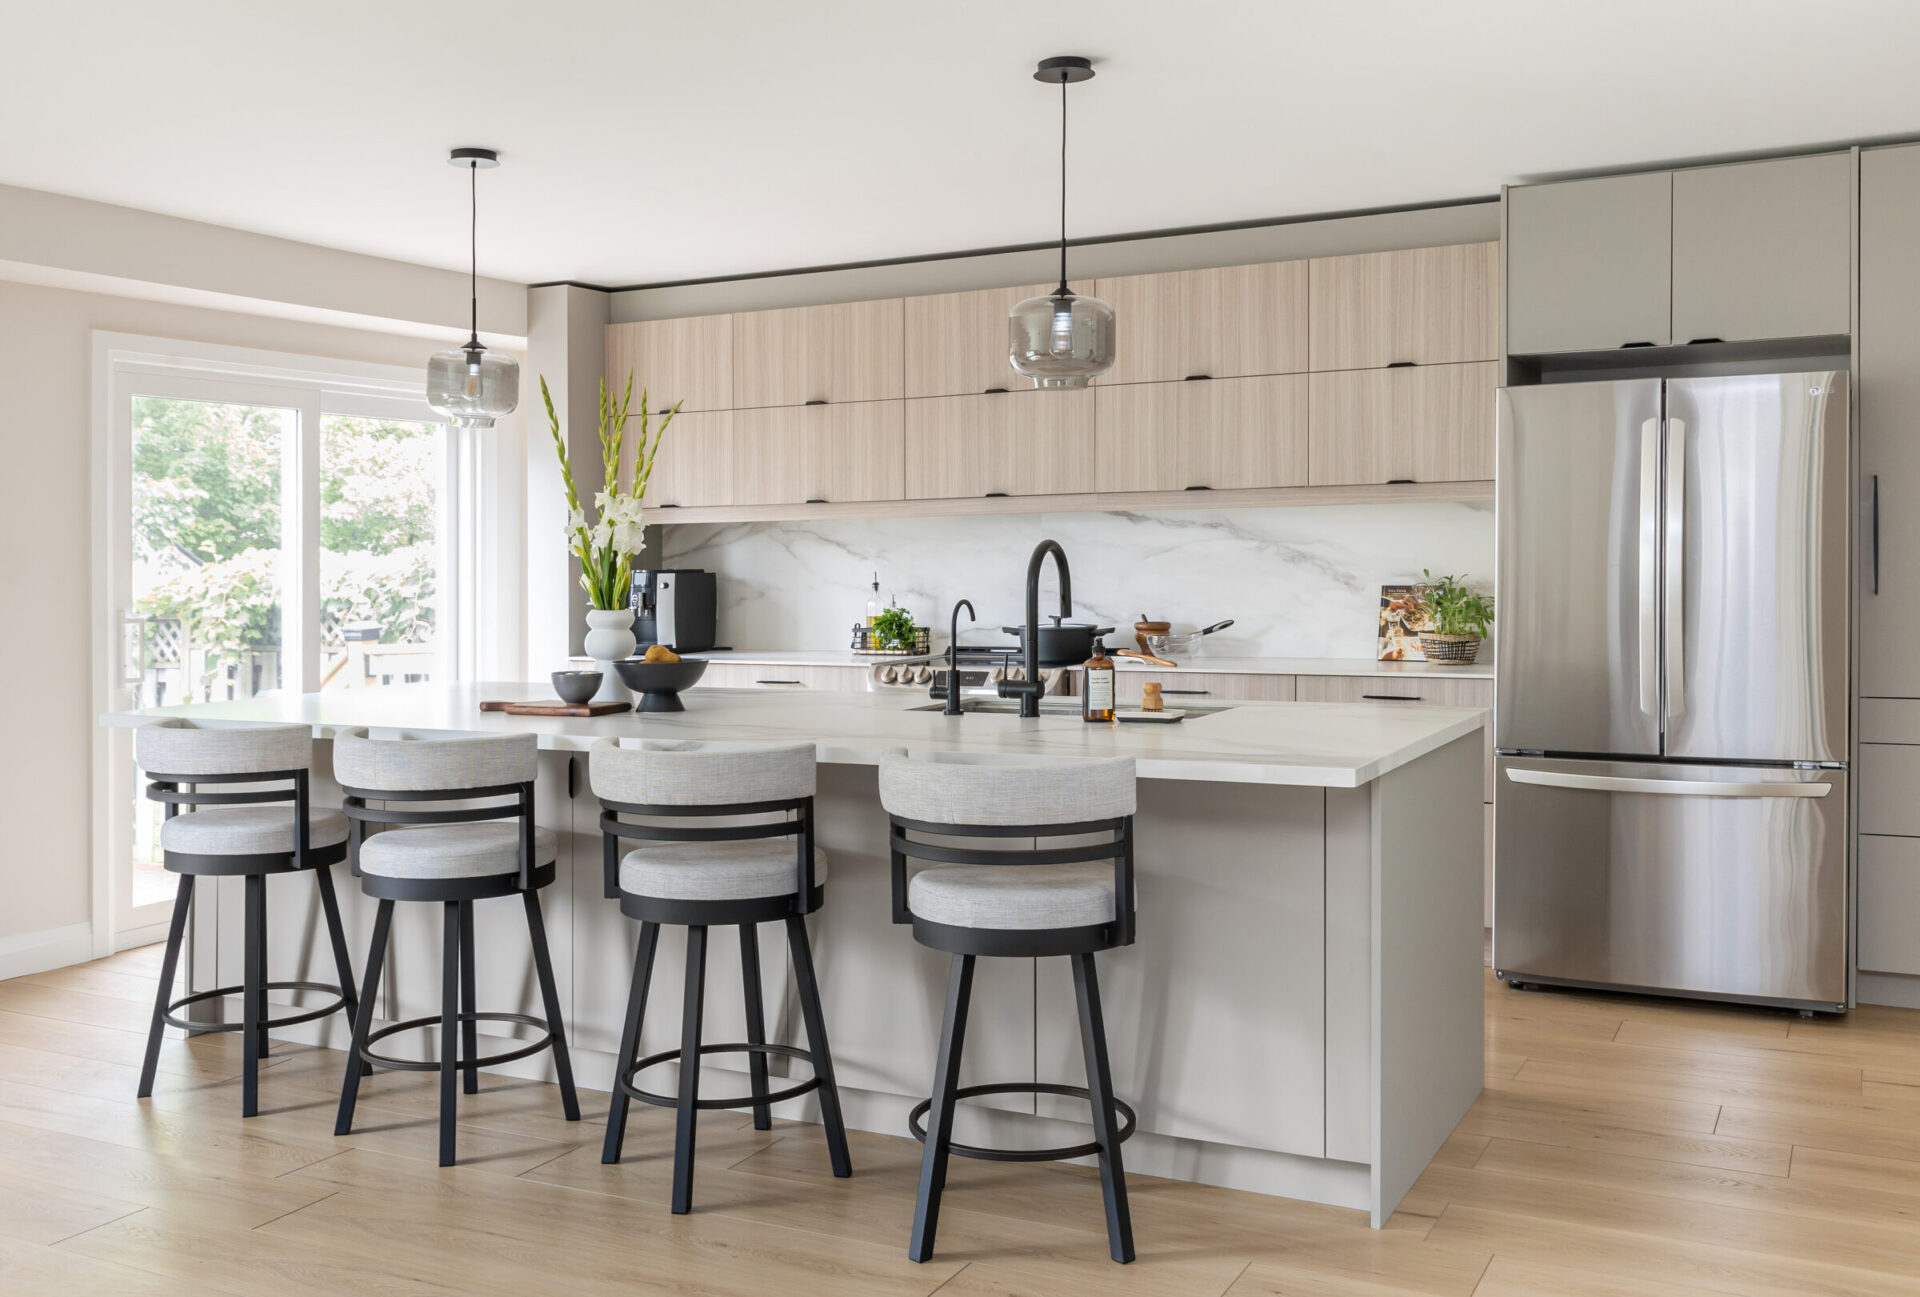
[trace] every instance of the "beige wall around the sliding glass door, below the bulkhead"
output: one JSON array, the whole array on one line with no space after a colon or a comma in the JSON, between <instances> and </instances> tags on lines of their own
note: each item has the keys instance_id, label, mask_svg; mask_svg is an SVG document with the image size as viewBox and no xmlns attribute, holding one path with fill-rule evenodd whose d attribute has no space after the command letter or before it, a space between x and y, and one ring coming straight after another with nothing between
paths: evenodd
<instances>
[{"instance_id":1,"label":"beige wall around the sliding glass door, below the bulkhead","mask_svg":"<svg viewBox=\"0 0 1920 1297\"><path fill-rule=\"evenodd\" d=\"M8 466L0 476L0 616L6 622L0 681L6 681L6 719L13 735L0 744L0 787L8 789L15 810L0 846L0 950L8 948L8 938L90 919L92 330L420 366L444 345L426 338L0 282L0 447ZM518 426L499 436L513 441L501 453L520 462ZM513 489L518 489L516 476ZM515 526L518 510L520 501L513 499ZM516 558L518 545L513 549ZM513 585L518 587L518 574ZM518 602L503 616L516 620Z\"/></svg>"}]
</instances>

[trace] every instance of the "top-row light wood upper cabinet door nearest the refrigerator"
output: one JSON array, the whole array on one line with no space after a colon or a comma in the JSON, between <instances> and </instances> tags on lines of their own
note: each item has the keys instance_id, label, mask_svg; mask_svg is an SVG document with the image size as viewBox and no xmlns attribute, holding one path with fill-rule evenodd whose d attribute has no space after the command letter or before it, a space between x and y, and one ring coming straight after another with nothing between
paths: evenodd
<instances>
[{"instance_id":1,"label":"top-row light wood upper cabinet door nearest the refrigerator","mask_svg":"<svg viewBox=\"0 0 1920 1297\"><path fill-rule=\"evenodd\" d=\"M1500 357L1500 244L1311 263L1315 370Z\"/></svg>"}]
</instances>

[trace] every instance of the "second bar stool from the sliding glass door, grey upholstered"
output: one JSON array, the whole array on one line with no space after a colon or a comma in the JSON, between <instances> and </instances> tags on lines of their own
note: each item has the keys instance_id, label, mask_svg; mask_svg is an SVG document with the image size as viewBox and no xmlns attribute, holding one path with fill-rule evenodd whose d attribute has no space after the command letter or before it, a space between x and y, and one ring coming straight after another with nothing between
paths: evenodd
<instances>
[{"instance_id":1,"label":"second bar stool from the sliding glass door, grey upholstered","mask_svg":"<svg viewBox=\"0 0 1920 1297\"><path fill-rule=\"evenodd\" d=\"M409 1073L440 1073L440 1165L453 1165L455 1092L453 1076L463 1073L467 1094L480 1092L480 1069L524 1059L553 1049L553 1071L561 1082L566 1120L580 1120L574 1069L566 1055L566 1028L561 1023L561 994L553 984L553 957L547 929L540 919L540 888L553 883L557 838L534 823L534 775L538 764L534 735L486 735L476 739L369 739L365 729L334 739L334 775L346 790L351 821L348 861L361 890L380 902L367 950L367 982L353 1015L353 1044L340 1086L340 1117L334 1134L353 1128L359 1078L371 1067ZM486 800L461 808L374 808L369 802L455 802ZM367 825L384 831L367 833ZM474 1007L474 902L518 892L526 906L526 932L534 946L534 973L545 1019L524 1013L482 1013ZM417 1017L372 1026L372 1005L380 990L394 902L440 902L440 1017ZM396 1059L374 1051L374 1042L405 1030L440 1025L440 1057ZM480 1023L515 1023L543 1034L516 1049L480 1057ZM453 1028L461 1028L455 1042Z\"/></svg>"}]
</instances>

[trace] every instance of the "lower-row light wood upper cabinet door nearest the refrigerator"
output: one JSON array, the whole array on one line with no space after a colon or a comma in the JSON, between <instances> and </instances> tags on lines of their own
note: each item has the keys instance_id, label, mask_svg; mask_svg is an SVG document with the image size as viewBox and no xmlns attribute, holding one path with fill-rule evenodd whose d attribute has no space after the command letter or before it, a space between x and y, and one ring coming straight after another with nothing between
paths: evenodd
<instances>
[{"instance_id":1,"label":"lower-row light wood upper cabinet door nearest the refrigerator","mask_svg":"<svg viewBox=\"0 0 1920 1297\"><path fill-rule=\"evenodd\" d=\"M1309 485L1492 480L1498 368L1313 374Z\"/></svg>"}]
</instances>

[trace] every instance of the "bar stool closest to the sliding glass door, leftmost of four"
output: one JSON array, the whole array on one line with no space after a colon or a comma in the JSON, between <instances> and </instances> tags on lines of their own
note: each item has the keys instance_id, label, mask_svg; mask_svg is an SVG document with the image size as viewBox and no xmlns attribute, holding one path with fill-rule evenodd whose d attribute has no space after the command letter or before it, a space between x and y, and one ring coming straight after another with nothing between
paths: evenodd
<instances>
[{"instance_id":1,"label":"bar stool closest to the sliding glass door, leftmost of four","mask_svg":"<svg viewBox=\"0 0 1920 1297\"><path fill-rule=\"evenodd\" d=\"M332 867L346 858L348 821L336 810L307 804L313 731L305 725L248 725L204 729L188 719L163 719L134 731L134 760L146 771L146 796L167 806L159 827L161 860L180 875L167 925L167 954L159 963L154 1021L146 1032L140 1065L142 1099L154 1094L159 1042L167 1026L186 1032L242 1032L246 1065L240 1073L240 1115L259 1113L259 1061L275 1026L311 1023L346 1009L353 1015L353 969L348 938L340 929ZM200 785L280 785L200 792ZM190 814L179 814L180 808ZM207 808L207 810L202 810ZM321 913L334 948L338 986L326 982L267 980L267 875L311 871L321 890ZM244 955L240 986L217 986L173 1000L180 965L186 915L194 906L194 879L240 875L246 879ZM319 1009L267 1017L269 990L313 990L334 996ZM180 1009L202 1000L240 996L238 1023L190 1023Z\"/></svg>"}]
</instances>

